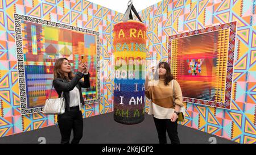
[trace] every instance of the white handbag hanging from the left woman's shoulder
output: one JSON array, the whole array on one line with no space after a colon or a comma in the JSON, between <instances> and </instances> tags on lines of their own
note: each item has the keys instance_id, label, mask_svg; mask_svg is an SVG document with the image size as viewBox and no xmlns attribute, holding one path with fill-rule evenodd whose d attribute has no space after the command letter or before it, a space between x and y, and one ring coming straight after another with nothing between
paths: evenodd
<instances>
[{"instance_id":1,"label":"white handbag hanging from the left woman's shoulder","mask_svg":"<svg viewBox=\"0 0 256 155\"><path fill-rule=\"evenodd\" d=\"M44 104L43 114L48 114L48 115L64 114L65 98L63 98L63 91L61 93L60 98L51 99L51 95L52 95L52 89L51 89L49 98L46 100L46 104Z\"/></svg>"}]
</instances>

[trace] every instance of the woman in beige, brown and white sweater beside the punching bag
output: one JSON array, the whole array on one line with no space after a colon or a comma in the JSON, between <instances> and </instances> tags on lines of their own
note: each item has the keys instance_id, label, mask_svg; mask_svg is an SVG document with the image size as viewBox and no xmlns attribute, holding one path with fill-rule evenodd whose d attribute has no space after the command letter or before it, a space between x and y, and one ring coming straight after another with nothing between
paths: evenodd
<instances>
[{"instance_id":1,"label":"woman in beige, brown and white sweater beside the punching bag","mask_svg":"<svg viewBox=\"0 0 256 155\"><path fill-rule=\"evenodd\" d=\"M152 69L154 72L154 68ZM158 76L158 77L157 77ZM145 82L145 95L151 99L148 114L153 115L158 139L160 144L166 144L166 131L170 137L171 143L180 143L177 134L177 116L180 107L183 107L182 92L180 85L174 81L175 106L173 103L173 90L171 81L174 77L171 74L170 65L167 62L160 62L155 73L154 80Z\"/></svg>"}]
</instances>

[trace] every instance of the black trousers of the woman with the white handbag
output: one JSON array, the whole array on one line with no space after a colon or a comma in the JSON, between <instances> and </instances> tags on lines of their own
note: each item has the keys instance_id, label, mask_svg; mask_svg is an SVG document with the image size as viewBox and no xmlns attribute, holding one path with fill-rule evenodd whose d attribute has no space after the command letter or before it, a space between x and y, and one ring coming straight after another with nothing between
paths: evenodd
<instances>
[{"instance_id":1,"label":"black trousers of the woman with the white handbag","mask_svg":"<svg viewBox=\"0 0 256 155\"><path fill-rule=\"evenodd\" d=\"M82 130L84 122L82 121L82 112L79 106L70 107L70 111L65 111L64 114L57 116L57 122L60 128L61 144L69 144L71 130L73 129L72 144L78 144L82 138Z\"/></svg>"}]
</instances>

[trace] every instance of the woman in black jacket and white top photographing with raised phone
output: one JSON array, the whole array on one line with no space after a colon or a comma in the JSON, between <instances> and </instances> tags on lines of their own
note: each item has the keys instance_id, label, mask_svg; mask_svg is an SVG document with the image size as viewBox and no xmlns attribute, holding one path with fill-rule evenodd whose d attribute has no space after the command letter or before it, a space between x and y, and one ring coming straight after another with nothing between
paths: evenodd
<instances>
[{"instance_id":1,"label":"woman in black jacket and white top photographing with raised phone","mask_svg":"<svg viewBox=\"0 0 256 155\"><path fill-rule=\"evenodd\" d=\"M81 78L84 77L84 81ZM77 144L82 138L83 120L81 104L84 106L81 88L90 87L90 74L85 63L79 62L78 72L73 74L67 58L59 58L54 66L53 87L59 98L63 92L65 98L65 113L57 116L61 134L61 143L69 144L71 131L73 139L71 143Z\"/></svg>"}]
</instances>

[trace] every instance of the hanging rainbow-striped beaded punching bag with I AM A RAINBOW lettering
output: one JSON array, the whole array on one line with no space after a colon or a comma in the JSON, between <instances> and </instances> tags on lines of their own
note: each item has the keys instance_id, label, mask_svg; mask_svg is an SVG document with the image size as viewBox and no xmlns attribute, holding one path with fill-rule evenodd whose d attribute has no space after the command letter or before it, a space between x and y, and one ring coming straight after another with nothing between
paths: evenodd
<instances>
[{"instance_id":1,"label":"hanging rainbow-striped beaded punching bag with I AM A RAINBOW lettering","mask_svg":"<svg viewBox=\"0 0 256 155\"><path fill-rule=\"evenodd\" d=\"M144 120L146 27L123 21L114 26L114 120L137 124Z\"/></svg>"}]
</instances>

